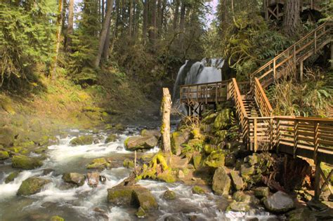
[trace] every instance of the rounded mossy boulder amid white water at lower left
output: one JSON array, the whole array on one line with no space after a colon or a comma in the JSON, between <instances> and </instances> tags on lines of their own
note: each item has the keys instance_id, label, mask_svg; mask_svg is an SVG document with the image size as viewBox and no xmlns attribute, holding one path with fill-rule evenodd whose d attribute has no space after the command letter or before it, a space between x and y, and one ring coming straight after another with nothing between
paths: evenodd
<instances>
[{"instance_id":1,"label":"rounded mossy boulder amid white water at lower left","mask_svg":"<svg viewBox=\"0 0 333 221\"><path fill-rule=\"evenodd\" d=\"M24 180L20 185L18 195L27 196L37 194L38 192L41 192L41 189L49 182L51 181L43 178L27 178L27 180Z\"/></svg>"}]
</instances>

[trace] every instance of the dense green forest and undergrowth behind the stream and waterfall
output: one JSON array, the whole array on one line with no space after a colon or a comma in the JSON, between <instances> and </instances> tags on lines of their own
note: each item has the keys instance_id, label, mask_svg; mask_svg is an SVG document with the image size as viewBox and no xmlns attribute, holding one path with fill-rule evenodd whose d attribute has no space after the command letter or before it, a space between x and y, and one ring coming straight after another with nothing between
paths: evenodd
<instances>
[{"instance_id":1,"label":"dense green forest and undergrowth behind the stream and waterfall","mask_svg":"<svg viewBox=\"0 0 333 221\"><path fill-rule=\"evenodd\" d=\"M290 25L264 20L260 0L3 0L2 108L25 112L30 106L28 113L57 117L71 112L82 121L79 113L98 107L101 115L84 119L100 119L103 113L130 119L155 108L161 88L172 86L187 59L224 58L228 76L247 79L332 20L332 1L320 4L320 12L294 12L296 25ZM332 115L333 75L328 62L318 62L327 54L309 62L308 81L285 79L268 90L278 114Z\"/></svg>"}]
</instances>

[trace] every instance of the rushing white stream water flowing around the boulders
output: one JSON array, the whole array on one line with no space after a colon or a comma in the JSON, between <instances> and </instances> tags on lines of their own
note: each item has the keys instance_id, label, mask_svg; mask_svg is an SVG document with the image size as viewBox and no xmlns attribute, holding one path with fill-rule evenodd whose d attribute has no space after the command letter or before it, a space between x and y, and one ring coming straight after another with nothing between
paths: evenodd
<instances>
[{"instance_id":1,"label":"rushing white stream water flowing around the boulders","mask_svg":"<svg viewBox=\"0 0 333 221\"><path fill-rule=\"evenodd\" d=\"M48 220L52 215L59 215L65 220L139 220L135 216L136 208L112 206L107 203L107 189L114 187L126 178L131 170L122 166L124 159L133 159L133 152L124 149L124 140L138 129L128 128L119 134L115 142L105 144L107 134L98 133L100 142L93 145L70 146L70 140L81 135L61 138L59 145L48 147L44 166L34 170L23 170L13 182L5 184L4 180L13 171L11 163L6 161L0 165L0 220ZM158 152L158 148L149 152ZM141 154L139 154L140 156ZM77 172L86 174L86 164L92 159L107 157L112 161L112 168L103 170L106 182L91 188L87 183L81 187L69 188L62 180L63 173ZM16 196L23 180L38 175L51 180L38 194L32 196ZM259 220L275 218L263 210L250 213L223 213L219 208L226 205L226 199L214 194L192 194L192 187L181 183L166 184L152 180L141 180L138 185L150 189L157 199L159 210L143 220L188 220L195 216L196 220L248 220L256 217ZM176 193L176 200L166 201L162 198L166 189Z\"/></svg>"}]
</instances>

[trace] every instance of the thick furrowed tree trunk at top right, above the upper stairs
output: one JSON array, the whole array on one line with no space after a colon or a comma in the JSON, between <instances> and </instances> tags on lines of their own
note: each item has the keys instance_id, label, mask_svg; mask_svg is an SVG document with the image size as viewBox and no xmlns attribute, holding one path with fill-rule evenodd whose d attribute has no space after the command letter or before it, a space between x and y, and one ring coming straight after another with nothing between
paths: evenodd
<instances>
[{"instance_id":1,"label":"thick furrowed tree trunk at top right, above the upper stairs","mask_svg":"<svg viewBox=\"0 0 333 221\"><path fill-rule=\"evenodd\" d=\"M287 0L287 4L285 4L283 30L289 36L296 35L301 26L300 8L300 0Z\"/></svg>"}]
</instances>

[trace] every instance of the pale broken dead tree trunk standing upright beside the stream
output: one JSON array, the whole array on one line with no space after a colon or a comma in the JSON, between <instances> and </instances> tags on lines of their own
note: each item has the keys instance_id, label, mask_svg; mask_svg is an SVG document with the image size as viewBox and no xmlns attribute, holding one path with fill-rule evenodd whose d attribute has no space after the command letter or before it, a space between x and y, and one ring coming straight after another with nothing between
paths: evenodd
<instances>
[{"instance_id":1,"label":"pale broken dead tree trunk standing upright beside the stream","mask_svg":"<svg viewBox=\"0 0 333 221\"><path fill-rule=\"evenodd\" d=\"M171 95L168 88L163 88L163 98L161 105L162 112L162 149L163 152L171 152L170 142L170 114L171 114Z\"/></svg>"}]
</instances>

